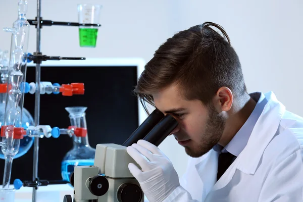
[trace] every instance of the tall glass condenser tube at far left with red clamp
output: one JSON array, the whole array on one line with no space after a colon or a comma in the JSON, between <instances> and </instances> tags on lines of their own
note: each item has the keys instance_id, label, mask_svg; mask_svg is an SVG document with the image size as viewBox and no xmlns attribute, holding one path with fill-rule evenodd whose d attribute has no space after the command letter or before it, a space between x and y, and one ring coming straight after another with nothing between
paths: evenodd
<instances>
[{"instance_id":1,"label":"tall glass condenser tube at far left with red clamp","mask_svg":"<svg viewBox=\"0 0 303 202\"><path fill-rule=\"evenodd\" d=\"M29 23L26 20L27 1L20 0L18 3L18 19L13 23L13 29L5 29L12 32L11 54L9 66L9 80L7 91L7 102L5 110L4 126L2 126L3 146L5 155L5 170L3 188L8 188L11 180L12 163L14 156L18 153L20 138L24 135L21 128L22 109L25 87L27 48L29 36Z\"/></svg>"}]
</instances>

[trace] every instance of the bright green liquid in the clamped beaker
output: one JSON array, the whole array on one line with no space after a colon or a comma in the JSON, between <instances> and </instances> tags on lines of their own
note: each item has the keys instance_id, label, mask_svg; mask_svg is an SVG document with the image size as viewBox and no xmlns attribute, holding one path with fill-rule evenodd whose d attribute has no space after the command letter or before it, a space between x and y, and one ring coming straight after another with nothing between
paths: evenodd
<instances>
[{"instance_id":1,"label":"bright green liquid in the clamped beaker","mask_svg":"<svg viewBox=\"0 0 303 202\"><path fill-rule=\"evenodd\" d=\"M81 47L95 47L98 29L79 28L79 42Z\"/></svg>"}]
</instances>

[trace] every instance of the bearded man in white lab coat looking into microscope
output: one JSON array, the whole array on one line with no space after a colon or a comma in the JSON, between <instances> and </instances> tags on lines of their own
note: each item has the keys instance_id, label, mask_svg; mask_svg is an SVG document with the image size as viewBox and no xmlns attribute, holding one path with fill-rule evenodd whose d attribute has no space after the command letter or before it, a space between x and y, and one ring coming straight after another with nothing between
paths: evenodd
<instances>
[{"instance_id":1,"label":"bearded man in white lab coat looking into microscope","mask_svg":"<svg viewBox=\"0 0 303 202\"><path fill-rule=\"evenodd\" d=\"M135 92L174 116L172 134L191 157L180 185L158 147L139 140L127 148L140 166L129 170L150 202L303 201L303 119L273 92L246 92L220 25L206 22L169 38Z\"/></svg>"}]
</instances>

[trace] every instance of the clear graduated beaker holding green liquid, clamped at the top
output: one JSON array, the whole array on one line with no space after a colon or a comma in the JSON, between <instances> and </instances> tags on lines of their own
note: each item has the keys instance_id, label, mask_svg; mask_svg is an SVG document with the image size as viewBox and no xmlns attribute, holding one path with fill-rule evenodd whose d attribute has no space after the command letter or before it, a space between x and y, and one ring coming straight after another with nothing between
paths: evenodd
<instances>
[{"instance_id":1,"label":"clear graduated beaker holding green liquid, clamped at the top","mask_svg":"<svg viewBox=\"0 0 303 202\"><path fill-rule=\"evenodd\" d=\"M79 24L98 24L101 5L78 4ZM79 26L80 47L95 47L98 28L94 26Z\"/></svg>"}]
</instances>

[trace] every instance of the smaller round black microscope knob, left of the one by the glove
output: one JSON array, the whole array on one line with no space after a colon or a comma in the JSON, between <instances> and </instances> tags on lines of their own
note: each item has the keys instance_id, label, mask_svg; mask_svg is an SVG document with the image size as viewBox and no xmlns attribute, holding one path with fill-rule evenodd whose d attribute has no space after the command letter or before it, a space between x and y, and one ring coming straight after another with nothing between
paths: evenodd
<instances>
[{"instance_id":1,"label":"smaller round black microscope knob, left of the one by the glove","mask_svg":"<svg viewBox=\"0 0 303 202\"><path fill-rule=\"evenodd\" d=\"M102 196L109 190L110 184L106 177L96 175L92 177L88 184L89 191L96 196Z\"/></svg>"}]
</instances>

